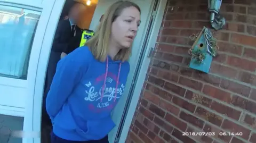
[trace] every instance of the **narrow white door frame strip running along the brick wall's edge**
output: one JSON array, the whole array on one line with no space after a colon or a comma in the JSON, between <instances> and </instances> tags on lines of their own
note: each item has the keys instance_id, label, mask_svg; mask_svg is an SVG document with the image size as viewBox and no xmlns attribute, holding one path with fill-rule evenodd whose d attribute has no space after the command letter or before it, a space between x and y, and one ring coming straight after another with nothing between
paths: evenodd
<instances>
[{"instance_id":1,"label":"narrow white door frame strip running along the brick wall's edge","mask_svg":"<svg viewBox=\"0 0 256 143\"><path fill-rule=\"evenodd\" d=\"M121 132L121 137L119 139L119 143L123 143L125 142L126 138L127 138L127 134L129 132L130 129L130 125L132 123L132 119L133 119L133 115L135 113L136 107L138 105L139 102L139 97L140 97L140 92L141 89L143 87L143 83L145 82L145 78L146 78L146 74L148 71L148 67L149 67L149 63L150 63L150 57L148 57L148 53L150 52L151 47L155 47L156 45L156 40L157 40L157 36L158 36L158 32L159 29L161 28L161 24L163 21L163 15L164 15L164 10L165 10L165 6L167 3L167 0L159 0L159 6L157 8L157 12L156 12L156 17L153 23L153 27L152 27L152 32L151 35L148 39L149 44L147 45L147 49L146 49L146 53L143 55L143 61L141 64L141 69L138 75L138 80L135 83L135 88L133 91L133 95L132 95L132 99L131 99L131 104L129 106L129 110L127 112L127 116L124 122L124 127L122 129Z\"/></svg>"}]
</instances>

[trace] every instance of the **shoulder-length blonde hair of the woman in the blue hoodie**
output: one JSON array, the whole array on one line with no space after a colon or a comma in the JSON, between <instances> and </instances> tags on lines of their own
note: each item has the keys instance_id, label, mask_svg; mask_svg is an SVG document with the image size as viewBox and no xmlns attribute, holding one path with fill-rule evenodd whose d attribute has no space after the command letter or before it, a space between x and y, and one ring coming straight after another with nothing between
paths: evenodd
<instances>
[{"instance_id":1,"label":"shoulder-length blonde hair of the woman in the blue hoodie","mask_svg":"<svg viewBox=\"0 0 256 143\"><path fill-rule=\"evenodd\" d=\"M107 58L109 41L111 35L111 25L126 7L134 6L140 12L140 7L130 1L118 1L111 5L105 12L94 36L85 43L97 60L104 62ZM122 48L114 57L114 60L127 61L131 55L132 49Z\"/></svg>"}]
</instances>

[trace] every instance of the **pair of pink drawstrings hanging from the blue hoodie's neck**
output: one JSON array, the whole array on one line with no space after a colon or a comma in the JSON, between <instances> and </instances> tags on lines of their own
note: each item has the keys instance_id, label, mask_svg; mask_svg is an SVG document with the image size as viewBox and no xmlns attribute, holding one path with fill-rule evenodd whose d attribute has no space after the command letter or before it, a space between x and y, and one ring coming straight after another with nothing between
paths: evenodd
<instances>
[{"instance_id":1,"label":"pair of pink drawstrings hanging from the blue hoodie's neck","mask_svg":"<svg viewBox=\"0 0 256 143\"><path fill-rule=\"evenodd\" d=\"M115 99L114 99L114 102L116 102L116 97L117 97L117 88L118 88L118 84L119 84L119 76L120 76L120 71L121 71L121 65L122 65L122 63L119 63L118 75L117 75L117 80L116 80L116 88L115 88ZM105 79L104 79L103 87L102 87L102 90L101 90L100 102L102 102L104 90L105 90L105 88L106 88L107 75L108 75L108 57L107 57L107 63L106 63Z\"/></svg>"}]
</instances>

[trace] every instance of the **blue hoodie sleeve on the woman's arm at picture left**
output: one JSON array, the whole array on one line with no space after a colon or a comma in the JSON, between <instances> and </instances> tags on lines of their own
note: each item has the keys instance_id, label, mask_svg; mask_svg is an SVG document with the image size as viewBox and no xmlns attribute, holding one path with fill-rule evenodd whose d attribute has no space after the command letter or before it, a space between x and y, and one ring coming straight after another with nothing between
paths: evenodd
<instances>
[{"instance_id":1,"label":"blue hoodie sleeve on the woman's arm at picture left","mask_svg":"<svg viewBox=\"0 0 256 143\"><path fill-rule=\"evenodd\" d=\"M80 48L62 58L57 65L52 85L46 97L46 111L51 120L61 110L74 87L79 83L84 66Z\"/></svg>"}]
</instances>

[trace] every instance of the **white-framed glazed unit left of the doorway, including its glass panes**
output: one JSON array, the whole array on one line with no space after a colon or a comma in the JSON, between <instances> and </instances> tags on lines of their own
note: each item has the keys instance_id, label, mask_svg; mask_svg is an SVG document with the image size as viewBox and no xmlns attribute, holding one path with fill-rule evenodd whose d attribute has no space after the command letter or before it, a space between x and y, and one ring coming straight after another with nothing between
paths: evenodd
<instances>
[{"instance_id":1,"label":"white-framed glazed unit left of the doorway, including its glass panes","mask_svg":"<svg viewBox=\"0 0 256 143\"><path fill-rule=\"evenodd\" d=\"M34 96L34 87L54 3L55 0L0 0L0 126L4 131L39 131L33 123L33 108L34 97L41 95ZM41 107L39 104L36 106ZM6 139L0 134L0 142ZM28 143L33 139L10 138L9 142Z\"/></svg>"}]
</instances>

